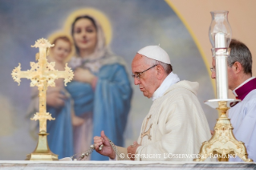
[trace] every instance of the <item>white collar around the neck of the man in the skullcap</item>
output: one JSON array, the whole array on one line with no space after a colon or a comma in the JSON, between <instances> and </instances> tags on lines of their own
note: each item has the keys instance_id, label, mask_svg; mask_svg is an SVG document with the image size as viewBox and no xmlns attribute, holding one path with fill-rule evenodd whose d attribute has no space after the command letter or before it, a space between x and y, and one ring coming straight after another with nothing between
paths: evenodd
<instances>
[{"instance_id":1,"label":"white collar around the neck of the man in the skullcap","mask_svg":"<svg viewBox=\"0 0 256 170\"><path fill-rule=\"evenodd\" d=\"M154 92L154 94L152 95L152 101L163 96L165 94L165 91L169 89L169 87L171 87L173 84L177 83L178 81L180 81L180 78L173 72L167 75L163 83L161 83L160 87L158 87Z\"/></svg>"}]
</instances>

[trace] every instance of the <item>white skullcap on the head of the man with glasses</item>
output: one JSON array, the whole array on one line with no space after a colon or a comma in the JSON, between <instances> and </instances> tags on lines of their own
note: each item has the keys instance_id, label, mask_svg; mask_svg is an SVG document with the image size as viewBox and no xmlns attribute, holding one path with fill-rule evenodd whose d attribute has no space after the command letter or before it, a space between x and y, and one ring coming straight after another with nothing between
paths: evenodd
<instances>
[{"instance_id":1,"label":"white skullcap on the head of the man with glasses","mask_svg":"<svg viewBox=\"0 0 256 170\"><path fill-rule=\"evenodd\" d=\"M149 59L155 59L162 63L171 64L169 55L159 46L147 46L140 49L140 51L138 51L137 53L140 55L144 55Z\"/></svg>"}]
</instances>

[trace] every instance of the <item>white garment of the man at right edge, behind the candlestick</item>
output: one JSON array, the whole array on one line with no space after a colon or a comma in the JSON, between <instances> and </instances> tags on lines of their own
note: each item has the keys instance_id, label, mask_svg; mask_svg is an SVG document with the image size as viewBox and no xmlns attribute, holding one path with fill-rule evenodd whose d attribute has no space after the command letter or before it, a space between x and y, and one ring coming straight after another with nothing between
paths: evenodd
<instances>
[{"instance_id":1,"label":"white garment of the man at right edge, behind the candlestick","mask_svg":"<svg viewBox=\"0 0 256 170\"><path fill-rule=\"evenodd\" d=\"M253 79L255 79L253 77ZM249 79L251 80L251 79ZM248 82L248 81L247 81ZM246 83L247 83L246 82ZM236 95L236 93L234 93ZM248 157L256 161L256 90L250 91L242 102L230 108L229 118L234 127L234 136L245 143ZM237 156L230 161L242 162Z\"/></svg>"}]
</instances>

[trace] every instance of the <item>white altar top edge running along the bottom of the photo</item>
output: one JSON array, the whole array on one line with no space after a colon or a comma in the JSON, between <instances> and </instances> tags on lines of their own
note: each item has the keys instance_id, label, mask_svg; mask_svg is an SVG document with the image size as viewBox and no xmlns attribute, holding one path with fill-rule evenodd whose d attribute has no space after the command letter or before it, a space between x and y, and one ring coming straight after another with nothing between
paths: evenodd
<instances>
[{"instance_id":1,"label":"white altar top edge running along the bottom of the photo","mask_svg":"<svg viewBox=\"0 0 256 170\"><path fill-rule=\"evenodd\" d=\"M0 169L256 169L256 163L230 162L152 162L152 161L27 161L2 160Z\"/></svg>"}]
</instances>

